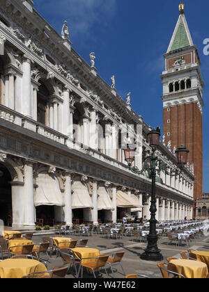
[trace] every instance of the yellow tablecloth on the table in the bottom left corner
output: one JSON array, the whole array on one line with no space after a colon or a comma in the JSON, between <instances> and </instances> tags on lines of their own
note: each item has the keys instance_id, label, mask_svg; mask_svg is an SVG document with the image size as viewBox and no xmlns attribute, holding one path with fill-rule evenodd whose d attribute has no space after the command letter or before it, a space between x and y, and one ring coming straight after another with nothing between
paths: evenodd
<instances>
[{"instance_id":1,"label":"yellow tablecloth on the table in the bottom left corner","mask_svg":"<svg viewBox=\"0 0 209 292\"><path fill-rule=\"evenodd\" d=\"M22 278L34 272L45 272L47 268L33 259L5 259L0 261L1 278Z\"/></svg>"}]
</instances>

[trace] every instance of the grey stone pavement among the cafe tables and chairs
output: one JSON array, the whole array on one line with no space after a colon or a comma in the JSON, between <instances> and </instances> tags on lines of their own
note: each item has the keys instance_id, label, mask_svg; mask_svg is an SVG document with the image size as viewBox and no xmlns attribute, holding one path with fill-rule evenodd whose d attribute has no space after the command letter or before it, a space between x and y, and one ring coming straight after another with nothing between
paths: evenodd
<instances>
[{"instance_id":1,"label":"grey stone pavement among the cafe tables and chairs","mask_svg":"<svg viewBox=\"0 0 209 292\"><path fill-rule=\"evenodd\" d=\"M209 251L209 232L205 234L206 236L197 238L195 241L193 240L190 244L190 248L194 250L205 250ZM50 236L55 236L55 234L50 234ZM109 254L111 252L125 250L125 254L123 257L123 268L126 274L131 273L139 273L142 275L147 275L151 278L162 278L159 268L157 268L157 263L152 261L143 261L140 259L140 254L144 252L144 249L147 246L147 243L140 243L137 241L133 241L130 236L123 236L123 238L112 239L106 238L104 235L94 235L94 236L64 236L70 237L73 240L78 240L81 238L88 238L88 246L91 248L97 248L101 253ZM33 236L34 243L42 242L42 236ZM187 245L176 246L168 245L169 239L167 237L160 238L158 240L158 248L162 250L162 254L164 256L164 262L167 263L167 257L180 257L180 252L185 251L188 247ZM52 256L49 263L49 268L53 268L54 266L62 265L63 262L61 258L56 258L56 254ZM124 278L121 266L117 265L114 267L114 273L116 278ZM75 278L73 275L73 269L70 270L70 274L67 275L68 278ZM84 278L93 278L90 273L85 272L84 269ZM105 273L100 273L98 277L106 278ZM109 270L109 279L113 279L111 271Z\"/></svg>"}]
</instances>

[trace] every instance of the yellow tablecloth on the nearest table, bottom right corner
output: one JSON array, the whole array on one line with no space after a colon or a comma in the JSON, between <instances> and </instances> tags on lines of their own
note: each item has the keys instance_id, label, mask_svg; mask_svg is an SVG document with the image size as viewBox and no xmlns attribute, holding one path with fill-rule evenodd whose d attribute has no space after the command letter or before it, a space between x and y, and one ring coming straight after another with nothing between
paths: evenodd
<instances>
[{"instance_id":1,"label":"yellow tablecloth on the nearest table, bottom right corner","mask_svg":"<svg viewBox=\"0 0 209 292\"><path fill-rule=\"evenodd\" d=\"M171 259L168 270L184 275L188 279L205 279L208 276L206 263L193 261L192 259Z\"/></svg>"}]
</instances>

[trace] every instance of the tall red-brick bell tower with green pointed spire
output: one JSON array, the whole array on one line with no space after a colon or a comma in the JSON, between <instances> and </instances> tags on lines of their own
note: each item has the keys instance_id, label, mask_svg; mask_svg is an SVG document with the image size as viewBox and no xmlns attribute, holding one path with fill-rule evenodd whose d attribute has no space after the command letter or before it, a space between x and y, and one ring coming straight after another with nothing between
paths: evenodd
<instances>
[{"instance_id":1,"label":"tall red-brick bell tower with green pointed spire","mask_svg":"<svg viewBox=\"0 0 209 292\"><path fill-rule=\"evenodd\" d=\"M203 193L203 79L201 60L192 41L185 18L184 4L165 58L163 84L164 143L171 151L184 145L189 149L188 162L194 165L194 200Z\"/></svg>"}]
</instances>

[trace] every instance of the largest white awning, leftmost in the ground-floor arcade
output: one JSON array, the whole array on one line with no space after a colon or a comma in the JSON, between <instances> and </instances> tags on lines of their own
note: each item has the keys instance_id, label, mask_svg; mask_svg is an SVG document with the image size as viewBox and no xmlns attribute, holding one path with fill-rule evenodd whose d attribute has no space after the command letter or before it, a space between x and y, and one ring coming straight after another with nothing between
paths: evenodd
<instances>
[{"instance_id":1,"label":"largest white awning, leftmost in the ground-floor arcade","mask_svg":"<svg viewBox=\"0 0 209 292\"><path fill-rule=\"evenodd\" d=\"M36 179L35 206L65 206L58 179L48 172L41 172Z\"/></svg>"}]
</instances>

